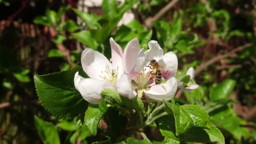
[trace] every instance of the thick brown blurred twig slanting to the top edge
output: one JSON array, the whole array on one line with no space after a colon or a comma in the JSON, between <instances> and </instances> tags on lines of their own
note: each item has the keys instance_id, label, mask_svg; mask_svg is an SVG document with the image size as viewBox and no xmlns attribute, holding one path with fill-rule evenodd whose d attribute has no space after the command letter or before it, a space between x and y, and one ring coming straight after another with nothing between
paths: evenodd
<instances>
[{"instance_id":1,"label":"thick brown blurred twig slanting to the top edge","mask_svg":"<svg viewBox=\"0 0 256 144\"><path fill-rule=\"evenodd\" d=\"M162 8L157 14L155 14L155 16L153 17L149 17L147 19L145 19L145 25L146 27L148 27L149 29L152 27L152 21L156 21L158 19L160 19L160 17L162 17L170 8L173 7L173 5L175 5L179 0L172 0L170 3L168 3L167 5L165 5L164 8Z\"/></svg>"}]
</instances>

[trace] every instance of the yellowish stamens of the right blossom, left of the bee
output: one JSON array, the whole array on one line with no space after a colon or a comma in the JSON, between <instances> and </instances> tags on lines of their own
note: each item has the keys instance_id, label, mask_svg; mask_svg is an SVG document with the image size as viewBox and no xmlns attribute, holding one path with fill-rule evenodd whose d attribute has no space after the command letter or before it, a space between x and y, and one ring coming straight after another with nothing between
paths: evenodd
<instances>
[{"instance_id":1,"label":"yellowish stamens of the right blossom, left of the bee","mask_svg":"<svg viewBox=\"0 0 256 144\"><path fill-rule=\"evenodd\" d=\"M143 69L142 72L140 72L135 77L138 88L140 89L148 88L151 78L152 78L152 73L150 73L150 71L146 72L146 69Z\"/></svg>"}]
</instances>

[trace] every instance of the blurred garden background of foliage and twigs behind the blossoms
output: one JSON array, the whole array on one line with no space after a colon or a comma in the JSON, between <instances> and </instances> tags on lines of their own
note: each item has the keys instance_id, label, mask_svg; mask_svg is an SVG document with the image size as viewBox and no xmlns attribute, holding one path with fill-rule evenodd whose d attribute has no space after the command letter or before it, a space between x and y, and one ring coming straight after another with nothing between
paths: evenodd
<instances>
[{"instance_id":1,"label":"blurred garden background of foliage and twigs behind the blossoms","mask_svg":"<svg viewBox=\"0 0 256 144\"><path fill-rule=\"evenodd\" d=\"M41 106L33 76L80 66L87 47L110 59L110 37L176 53L178 75L194 67L200 88L175 98L202 106L226 143L256 143L256 0L112 1L0 0L1 144L42 143L34 115L56 125L61 143L79 142L72 123Z\"/></svg>"}]
</instances>

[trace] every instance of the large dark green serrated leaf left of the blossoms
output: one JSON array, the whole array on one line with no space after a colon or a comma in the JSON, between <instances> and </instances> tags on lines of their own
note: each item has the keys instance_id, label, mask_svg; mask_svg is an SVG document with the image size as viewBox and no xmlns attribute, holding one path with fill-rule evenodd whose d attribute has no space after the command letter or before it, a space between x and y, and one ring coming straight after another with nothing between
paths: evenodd
<instances>
[{"instance_id":1,"label":"large dark green serrated leaf left of the blossoms","mask_svg":"<svg viewBox=\"0 0 256 144\"><path fill-rule=\"evenodd\" d=\"M48 75L35 75L37 96L43 107L63 119L84 114L88 102L83 99L74 85L75 73L86 77L82 67Z\"/></svg>"}]
</instances>

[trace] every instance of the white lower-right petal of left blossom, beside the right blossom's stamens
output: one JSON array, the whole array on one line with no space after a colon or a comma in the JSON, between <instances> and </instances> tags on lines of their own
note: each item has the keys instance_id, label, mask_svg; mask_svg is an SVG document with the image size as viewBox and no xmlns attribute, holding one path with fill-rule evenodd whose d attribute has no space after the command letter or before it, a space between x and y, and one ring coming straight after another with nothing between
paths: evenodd
<instances>
[{"instance_id":1,"label":"white lower-right petal of left blossom, beside the right blossom's stamens","mask_svg":"<svg viewBox=\"0 0 256 144\"><path fill-rule=\"evenodd\" d=\"M135 88L131 85L128 74L122 75L116 83L117 92L121 96L128 97L129 99L135 98L137 95Z\"/></svg>"}]
</instances>

